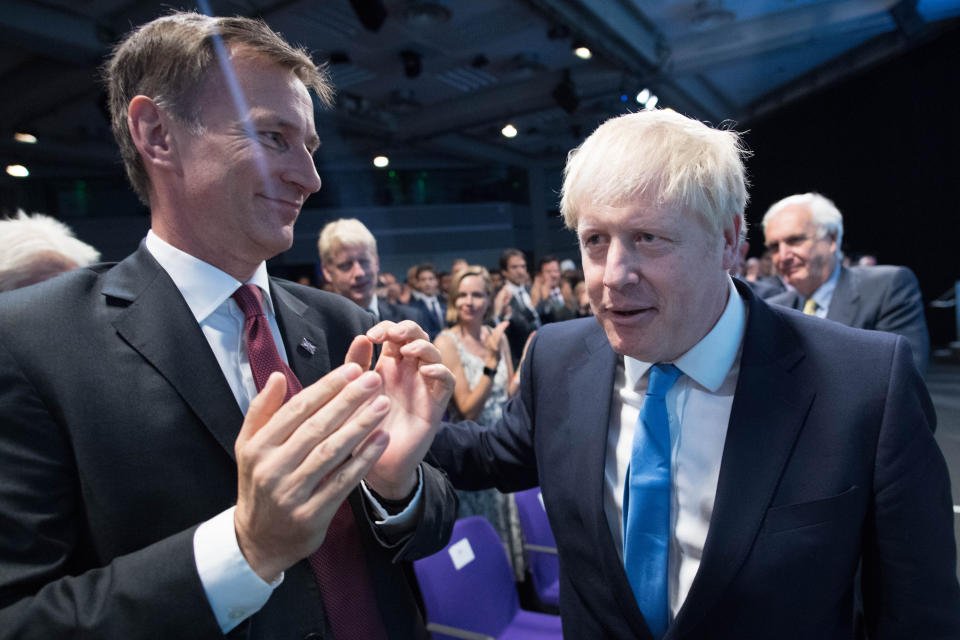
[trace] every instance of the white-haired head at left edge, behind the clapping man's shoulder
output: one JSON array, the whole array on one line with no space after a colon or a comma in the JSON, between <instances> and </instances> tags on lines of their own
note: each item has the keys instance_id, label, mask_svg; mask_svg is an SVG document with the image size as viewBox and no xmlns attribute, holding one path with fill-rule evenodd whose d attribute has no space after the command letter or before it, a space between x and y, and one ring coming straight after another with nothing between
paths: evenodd
<instances>
[{"instance_id":1,"label":"white-haired head at left edge, behind the clapping man's shoulder","mask_svg":"<svg viewBox=\"0 0 960 640\"><path fill-rule=\"evenodd\" d=\"M0 220L0 291L43 282L100 259L70 227L39 213Z\"/></svg>"}]
</instances>

